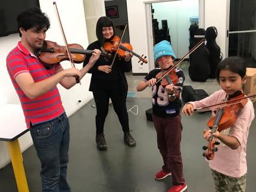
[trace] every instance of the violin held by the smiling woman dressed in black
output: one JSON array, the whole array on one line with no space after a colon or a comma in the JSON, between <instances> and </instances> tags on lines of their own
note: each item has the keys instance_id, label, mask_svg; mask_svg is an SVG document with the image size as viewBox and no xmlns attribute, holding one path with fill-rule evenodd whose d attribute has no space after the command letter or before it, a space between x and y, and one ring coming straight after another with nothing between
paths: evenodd
<instances>
[{"instance_id":1,"label":"violin held by the smiling woman dressed in black","mask_svg":"<svg viewBox=\"0 0 256 192\"><path fill-rule=\"evenodd\" d=\"M125 58L125 52L130 52L133 55L137 56L139 58L139 62L142 61L141 65L143 65L143 63L148 63L146 56L143 57L139 56L137 53L133 52L133 48L132 45L130 45L130 43L126 43L126 42L120 42L120 46L119 49L117 50L117 46L118 43L120 42L120 38L118 36L114 36L110 41L107 41L104 43L104 49L106 52L108 53L113 53L117 51L117 54L121 57L121 58Z\"/></svg>"}]
</instances>

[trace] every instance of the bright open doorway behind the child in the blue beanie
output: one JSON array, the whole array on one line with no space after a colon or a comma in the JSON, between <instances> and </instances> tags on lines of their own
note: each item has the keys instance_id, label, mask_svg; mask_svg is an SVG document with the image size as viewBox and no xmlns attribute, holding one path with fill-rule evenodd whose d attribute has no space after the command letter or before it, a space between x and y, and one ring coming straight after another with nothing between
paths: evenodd
<instances>
[{"instance_id":1,"label":"bright open doorway behind the child in the blue beanie","mask_svg":"<svg viewBox=\"0 0 256 192\"><path fill-rule=\"evenodd\" d=\"M199 0L157 1L146 4L148 52L154 61L153 47L161 40L171 43L177 58L189 51L189 27L199 24ZM149 64L150 70L155 64Z\"/></svg>"}]
</instances>

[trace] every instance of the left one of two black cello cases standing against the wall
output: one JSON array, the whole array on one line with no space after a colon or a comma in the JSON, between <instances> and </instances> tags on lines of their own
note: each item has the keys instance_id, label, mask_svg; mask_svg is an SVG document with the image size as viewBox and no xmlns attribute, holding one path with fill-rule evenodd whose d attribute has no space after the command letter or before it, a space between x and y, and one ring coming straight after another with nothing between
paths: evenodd
<instances>
[{"instance_id":1,"label":"left one of two black cello cases standing against the wall","mask_svg":"<svg viewBox=\"0 0 256 192\"><path fill-rule=\"evenodd\" d=\"M196 30L194 37L196 45L196 43L205 38L205 30L199 28ZM208 62L208 56L209 51L204 43L191 53L189 77L192 81L204 82L209 77L210 65Z\"/></svg>"}]
</instances>

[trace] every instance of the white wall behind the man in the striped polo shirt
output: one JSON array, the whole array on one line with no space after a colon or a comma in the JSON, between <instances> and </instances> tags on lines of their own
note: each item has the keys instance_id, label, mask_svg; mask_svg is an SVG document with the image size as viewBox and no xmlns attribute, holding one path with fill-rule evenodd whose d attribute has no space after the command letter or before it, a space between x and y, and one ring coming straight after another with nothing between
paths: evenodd
<instances>
[{"instance_id":1,"label":"white wall behind the man in the striped polo shirt","mask_svg":"<svg viewBox=\"0 0 256 192\"><path fill-rule=\"evenodd\" d=\"M46 12L50 18L51 28L47 32L46 40L52 40L59 45L64 45L63 37L61 35L60 27L57 21L57 16L52 5L52 0L40 0L40 8L43 12ZM85 15L83 10L82 0L57 0L58 11L64 27L65 36L68 43L79 43L86 48L88 46L88 37L86 31ZM20 37L18 34L11 34L7 37L0 37L0 71L1 81L0 87L0 105L5 103L20 103L17 94L14 90L13 84L10 81L6 69L5 58L8 53L16 45ZM70 68L71 65L68 61L61 63L64 68ZM77 68L82 68L83 64L76 64ZM65 90L63 87L58 86L60 95L63 101L63 105L67 115L70 116L76 112L79 108L85 105L90 99L92 99L92 93L88 91L90 81L90 74L86 74L81 80L82 85L77 84L70 90ZM84 102L79 105L76 104L76 100L80 99ZM32 139L30 133L25 134L20 139L21 150L24 151L27 147L31 146ZM0 168L10 162L10 157L7 149L7 144L4 141L0 141Z\"/></svg>"}]
</instances>

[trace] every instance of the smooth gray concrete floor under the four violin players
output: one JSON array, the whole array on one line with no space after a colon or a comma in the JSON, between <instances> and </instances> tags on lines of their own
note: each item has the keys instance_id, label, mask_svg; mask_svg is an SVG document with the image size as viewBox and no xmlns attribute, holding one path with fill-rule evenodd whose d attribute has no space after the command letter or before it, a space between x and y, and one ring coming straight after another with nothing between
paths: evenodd
<instances>
[{"instance_id":1,"label":"smooth gray concrete floor under the four violin players","mask_svg":"<svg viewBox=\"0 0 256 192\"><path fill-rule=\"evenodd\" d=\"M185 85L191 84L195 89L204 89L208 94L218 90L216 80L205 83L192 82L188 76L188 63L180 65L186 75ZM163 165L157 149L154 125L146 121L145 111L151 108L151 90L136 93L136 85L143 77L127 75L129 95L127 109L138 105L138 115L129 112L130 128L137 141L136 147L128 147L123 142L123 133L113 107L110 106L105 122L105 138L108 143L107 151L99 151L95 144L95 114L92 108L93 100L69 117L71 125L70 162L67 179L72 191L136 191L160 192L171 187L171 177L163 181L155 181L154 174ZM136 112L135 108L132 109ZM193 117L182 115L182 158L183 172L190 192L214 191L208 163L202 157L202 130L210 113L196 114ZM255 149L256 122L252 122L247 147L247 191L255 191L256 178ZM23 153L24 167L30 191L41 191L40 163L34 147ZM11 164L0 169L0 191L17 191Z\"/></svg>"}]
</instances>

